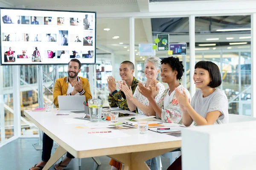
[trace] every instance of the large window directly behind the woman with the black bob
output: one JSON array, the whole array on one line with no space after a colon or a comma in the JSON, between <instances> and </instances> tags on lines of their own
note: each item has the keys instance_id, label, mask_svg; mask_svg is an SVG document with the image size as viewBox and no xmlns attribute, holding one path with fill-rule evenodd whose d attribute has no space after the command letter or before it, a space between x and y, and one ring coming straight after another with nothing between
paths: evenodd
<instances>
[{"instance_id":1,"label":"large window directly behind the woman with the black bob","mask_svg":"<svg viewBox=\"0 0 256 170\"><path fill-rule=\"evenodd\" d=\"M195 35L195 61L219 66L229 113L250 116L250 15L196 17Z\"/></svg>"}]
</instances>

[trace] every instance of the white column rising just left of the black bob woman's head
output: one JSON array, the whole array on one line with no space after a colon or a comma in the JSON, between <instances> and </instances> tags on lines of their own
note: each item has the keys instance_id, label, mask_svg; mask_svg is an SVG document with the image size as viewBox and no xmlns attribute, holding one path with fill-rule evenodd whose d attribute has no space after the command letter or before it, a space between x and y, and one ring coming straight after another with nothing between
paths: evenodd
<instances>
[{"instance_id":1,"label":"white column rising just left of the black bob woman's head","mask_svg":"<svg viewBox=\"0 0 256 170\"><path fill-rule=\"evenodd\" d=\"M195 68L195 15L189 17L189 54L190 54L190 96L195 94L195 83L193 80Z\"/></svg>"}]
</instances>

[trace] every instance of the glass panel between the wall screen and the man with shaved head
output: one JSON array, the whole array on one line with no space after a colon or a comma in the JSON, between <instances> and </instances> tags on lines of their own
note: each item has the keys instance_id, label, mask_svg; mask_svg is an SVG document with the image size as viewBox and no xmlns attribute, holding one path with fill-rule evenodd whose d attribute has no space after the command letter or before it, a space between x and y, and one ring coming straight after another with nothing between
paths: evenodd
<instances>
[{"instance_id":1,"label":"glass panel between the wall screen and the man with shaved head","mask_svg":"<svg viewBox=\"0 0 256 170\"><path fill-rule=\"evenodd\" d=\"M113 75L121 80L120 63L130 58L129 32L129 19L97 19L95 97L102 99L103 105L108 105L107 77Z\"/></svg>"}]
</instances>

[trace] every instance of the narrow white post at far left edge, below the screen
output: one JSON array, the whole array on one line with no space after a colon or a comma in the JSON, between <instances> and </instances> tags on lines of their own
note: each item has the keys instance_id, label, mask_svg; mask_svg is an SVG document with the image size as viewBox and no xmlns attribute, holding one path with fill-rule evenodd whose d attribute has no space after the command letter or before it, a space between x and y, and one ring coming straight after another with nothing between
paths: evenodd
<instances>
[{"instance_id":1,"label":"narrow white post at far left edge, below the screen","mask_svg":"<svg viewBox=\"0 0 256 170\"><path fill-rule=\"evenodd\" d=\"M7 67L7 66L6 66ZM3 66L0 65L0 132L1 143L5 141L5 122L4 122L4 107L3 107Z\"/></svg>"}]
</instances>

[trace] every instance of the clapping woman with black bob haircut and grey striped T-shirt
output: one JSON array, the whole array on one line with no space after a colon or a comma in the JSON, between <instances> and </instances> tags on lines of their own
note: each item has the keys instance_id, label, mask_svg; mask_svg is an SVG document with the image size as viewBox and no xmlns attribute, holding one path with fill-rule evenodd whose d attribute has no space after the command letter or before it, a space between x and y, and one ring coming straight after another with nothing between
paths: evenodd
<instances>
[{"instance_id":1,"label":"clapping woman with black bob haircut and grey striped T-shirt","mask_svg":"<svg viewBox=\"0 0 256 170\"><path fill-rule=\"evenodd\" d=\"M178 103L183 111L185 126L213 125L228 123L228 101L226 94L218 89L221 73L218 66L210 61L200 61L195 65L193 76L195 87L199 88L192 98L175 89ZM177 168L178 167L178 168ZM167 170L181 170L181 156Z\"/></svg>"}]
</instances>

